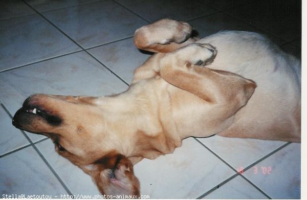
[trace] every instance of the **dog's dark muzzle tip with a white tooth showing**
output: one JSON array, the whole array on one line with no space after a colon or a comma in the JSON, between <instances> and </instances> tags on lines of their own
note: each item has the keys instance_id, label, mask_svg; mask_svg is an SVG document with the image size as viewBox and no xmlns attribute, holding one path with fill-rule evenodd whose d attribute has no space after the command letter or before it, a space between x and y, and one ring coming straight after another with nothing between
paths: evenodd
<instances>
[{"instance_id":1,"label":"dog's dark muzzle tip with a white tooth showing","mask_svg":"<svg viewBox=\"0 0 307 200\"><path fill-rule=\"evenodd\" d=\"M62 123L62 120L57 115L52 114L50 110L31 104L29 98L24 102L23 107L17 110L12 121L16 128L31 132L39 131L39 125L42 123L58 126Z\"/></svg>"}]
</instances>

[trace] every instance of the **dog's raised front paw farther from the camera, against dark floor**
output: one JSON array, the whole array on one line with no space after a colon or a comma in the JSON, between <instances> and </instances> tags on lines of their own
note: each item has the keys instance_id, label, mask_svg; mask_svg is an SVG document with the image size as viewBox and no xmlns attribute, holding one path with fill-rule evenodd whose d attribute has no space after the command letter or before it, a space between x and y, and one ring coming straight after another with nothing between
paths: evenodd
<instances>
[{"instance_id":1,"label":"dog's raised front paw farther from the camera, against dark floor","mask_svg":"<svg viewBox=\"0 0 307 200\"><path fill-rule=\"evenodd\" d=\"M197 39L190 37L192 27L172 19L161 19L139 28L134 35L135 46L150 52L171 52Z\"/></svg>"}]
</instances>

